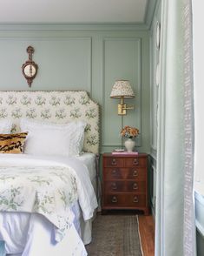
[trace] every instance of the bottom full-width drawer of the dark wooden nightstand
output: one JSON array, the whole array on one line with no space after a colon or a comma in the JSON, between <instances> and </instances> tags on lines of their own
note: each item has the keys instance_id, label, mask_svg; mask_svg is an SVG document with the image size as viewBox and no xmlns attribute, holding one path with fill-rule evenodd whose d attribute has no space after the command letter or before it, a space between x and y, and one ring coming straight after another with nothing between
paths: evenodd
<instances>
[{"instance_id":1,"label":"bottom full-width drawer of the dark wooden nightstand","mask_svg":"<svg viewBox=\"0 0 204 256\"><path fill-rule=\"evenodd\" d=\"M112 206L131 206L131 207L145 207L146 206L146 197L144 194L137 195L134 193L127 194L106 194L104 195L104 205Z\"/></svg>"}]
</instances>

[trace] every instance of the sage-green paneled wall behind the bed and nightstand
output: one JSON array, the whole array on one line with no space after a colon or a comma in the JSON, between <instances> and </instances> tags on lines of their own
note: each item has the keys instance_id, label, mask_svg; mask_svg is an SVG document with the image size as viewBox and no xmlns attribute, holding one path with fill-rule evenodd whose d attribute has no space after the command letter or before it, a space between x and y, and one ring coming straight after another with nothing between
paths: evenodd
<instances>
[{"instance_id":1,"label":"sage-green paneled wall behind the bed and nightstand","mask_svg":"<svg viewBox=\"0 0 204 256\"><path fill-rule=\"evenodd\" d=\"M128 28L128 27L127 27ZM28 59L26 48L35 49L33 60L39 70L31 88L21 66ZM122 125L141 131L137 138L140 152L149 152L149 32L126 30L125 26L103 26L75 30L53 25L27 25L0 30L0 90L86 90L101 106L101 152L121 145ZM115 79L130 80L135 104L127 116L117 115L118 100L109 98Z\"/></svg>"}]
</instances>

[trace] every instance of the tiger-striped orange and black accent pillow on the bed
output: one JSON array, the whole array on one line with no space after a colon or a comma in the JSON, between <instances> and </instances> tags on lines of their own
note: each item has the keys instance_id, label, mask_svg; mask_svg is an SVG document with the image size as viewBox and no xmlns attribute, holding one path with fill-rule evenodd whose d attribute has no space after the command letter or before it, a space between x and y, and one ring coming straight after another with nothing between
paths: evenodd
<instances>
[{"instance_id":1,"label":"tiger-striped orange and black accent pillow on the bed","mask_svg":"<svg viewBox=\"0 0 204 256\"><path fill-rule=\"evenodd\" d=\"M0 134L0 153L19 154L23 152L23 145L28 132L15 134Z\"/></svg>"}]
</instances>

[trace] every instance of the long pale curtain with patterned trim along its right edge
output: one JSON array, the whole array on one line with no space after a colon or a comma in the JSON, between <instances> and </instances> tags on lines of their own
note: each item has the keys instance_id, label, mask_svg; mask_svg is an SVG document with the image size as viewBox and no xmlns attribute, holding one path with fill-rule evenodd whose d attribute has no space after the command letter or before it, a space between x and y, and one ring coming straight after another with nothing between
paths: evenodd
<instances>
[{"instance_id":1,"label":"long pale curtain with patterned trim along its right edge","mask_svg":"<svg viewBox=\"0 0 204 256\"><path fill-rule=\"evenodd\" d=\"M155 256L195 255L191 44L190 0L161 0Z\"/></svg>"}]
</instances>

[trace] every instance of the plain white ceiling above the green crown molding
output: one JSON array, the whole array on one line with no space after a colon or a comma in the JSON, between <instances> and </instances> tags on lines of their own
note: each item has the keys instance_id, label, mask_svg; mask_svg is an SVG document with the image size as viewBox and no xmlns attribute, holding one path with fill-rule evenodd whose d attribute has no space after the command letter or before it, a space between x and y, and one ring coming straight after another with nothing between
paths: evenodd
<instances>
[{"instance_id":1,"label":"plain white ceiling above the green crown molding","mask_svg":"<svg viewBox=\"0 0 204 256\"><path fill-rule=\"evenodd\" d=\"M0 0L0 23L139 23L152 0Z\"/></svg>"}]
</instances>

